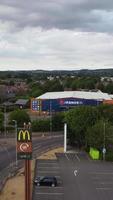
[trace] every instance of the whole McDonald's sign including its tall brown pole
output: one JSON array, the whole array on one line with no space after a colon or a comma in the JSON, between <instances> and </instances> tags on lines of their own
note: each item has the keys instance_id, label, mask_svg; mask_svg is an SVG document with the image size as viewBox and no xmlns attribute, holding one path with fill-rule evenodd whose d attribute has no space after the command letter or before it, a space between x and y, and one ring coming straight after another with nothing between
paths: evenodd
<instances>
[{"instance_id":1,"label":"whole McDonald's sign including its tall brown pole","mask_svg":"<svg viewBox=\"0 0 113 200\"><path fill-rule=\"evenodd\" d=\"M17 131L17 158L25 160L25 200L31 200L32 134L30 123L24 123L24 128Z\"/></svg>"}]
</instances>

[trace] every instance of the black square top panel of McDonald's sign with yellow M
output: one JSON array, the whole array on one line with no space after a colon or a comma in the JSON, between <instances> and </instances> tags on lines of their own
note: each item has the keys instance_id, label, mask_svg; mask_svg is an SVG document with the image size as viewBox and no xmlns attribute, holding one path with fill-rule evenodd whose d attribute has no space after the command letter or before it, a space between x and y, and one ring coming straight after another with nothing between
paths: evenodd
<instances>
[{"instance_id":1,"label":"black square top panel of McDonald's sign with yellow M","mask_svg":"<svg viewBox=\"0 0 113 200\"><path fill-rule=\"evenodd\" d=\"M17 141L20 142L30 142L32 140L31 133L29 130L21 129L17 133Z\"/></svg>"}]
</instances>

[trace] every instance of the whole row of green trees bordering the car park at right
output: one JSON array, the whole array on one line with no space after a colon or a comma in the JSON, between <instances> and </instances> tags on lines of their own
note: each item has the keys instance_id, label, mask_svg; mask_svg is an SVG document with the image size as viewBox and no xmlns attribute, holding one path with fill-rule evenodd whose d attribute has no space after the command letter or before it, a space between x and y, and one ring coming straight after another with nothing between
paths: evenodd
<instances>
[{"instance_id":1,"label":"whole row of green trees bordering the car park at right","mask_svg":"<svg viewBox=\"0 0 113 200\"><path fill-rule=\"evenodd\" d=\"M106 158L113 159L113 106L81 106L69 110L65 120L68 124L68 138L72 145L96 148Z\"/></svg>"}]
</instances>

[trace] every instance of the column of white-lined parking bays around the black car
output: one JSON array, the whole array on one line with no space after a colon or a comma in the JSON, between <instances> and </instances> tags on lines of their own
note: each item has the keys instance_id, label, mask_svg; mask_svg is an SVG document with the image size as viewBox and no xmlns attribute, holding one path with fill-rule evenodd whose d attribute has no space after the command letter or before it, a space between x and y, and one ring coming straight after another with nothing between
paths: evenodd
<instances>
[{"instance_id":1,"label":"column of white-lined parking bays around the black car","mask_svg":"<svg viewBox=\"0 0 113 200\"><path fill-rule=\"evenodd\" d=\"M33 200L63 199L63 182L57 160L37 160L35 173L35 177L55 176L57 178L58 185L57 187L34 186Z\"/></svg>"}]
</instances>

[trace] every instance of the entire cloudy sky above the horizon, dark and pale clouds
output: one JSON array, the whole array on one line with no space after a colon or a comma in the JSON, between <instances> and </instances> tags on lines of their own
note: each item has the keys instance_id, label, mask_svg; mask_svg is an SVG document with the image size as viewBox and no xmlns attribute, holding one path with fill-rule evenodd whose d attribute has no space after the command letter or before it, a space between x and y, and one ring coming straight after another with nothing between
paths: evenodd
<instances>
[{"instance_id":1,"label":"entire cloudy sky above the horizon, dark and pale clouds","mask_svg":"<svg viewBox=\"0 0 113 200\"><path fill-rule=\"evenodd\" d=\"M113 68L113 0L0 0L0 71Z\"/></svg>"}]
</instances>

